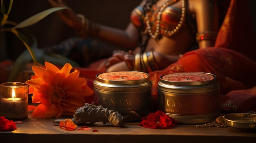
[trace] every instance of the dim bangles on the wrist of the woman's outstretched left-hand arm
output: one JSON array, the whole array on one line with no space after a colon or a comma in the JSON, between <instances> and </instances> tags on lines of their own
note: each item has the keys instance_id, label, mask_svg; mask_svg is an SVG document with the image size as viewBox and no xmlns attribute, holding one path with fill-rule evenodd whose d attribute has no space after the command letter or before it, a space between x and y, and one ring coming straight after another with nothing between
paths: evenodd
<instances>
[{"instance_id":1,"label":"dim bangles on the wrist of the woman's outstretched left-hand arm","mask_svg":"<svg viewBox=\"0 0 256 143\"><path fill-rule=\"evenodd\" d=\"M86 36L98 36L99 31L101 29L101 25L98 23L90 22L87 18L84 17L82 14L76 15L78 18L81 19L82 22L82 29L79 32L82 37Z\"/></svg>"}]
</instances>

